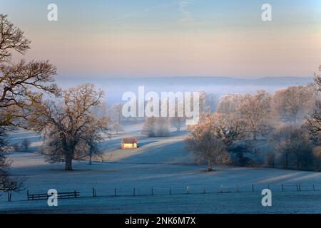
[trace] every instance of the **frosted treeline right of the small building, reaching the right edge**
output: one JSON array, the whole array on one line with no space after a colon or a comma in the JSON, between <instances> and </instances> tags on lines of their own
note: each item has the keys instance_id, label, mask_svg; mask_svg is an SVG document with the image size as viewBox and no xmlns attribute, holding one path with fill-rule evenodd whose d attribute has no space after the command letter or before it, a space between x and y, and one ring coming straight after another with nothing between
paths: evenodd
<instances>
[{"instance_id":1,"label":"frosted treeline right of the small building, reaching the right edge","mask_svg":"<svg viewBox=\"0 0 321 228\"><path fill-rule=\"evenodd\" d=\"M308 86L291 86L270 94L228 94L215 113L205 112L198 125L189 126L186 149L212 165L259 165L320 171L320 75ZM258 139L269 148L263 154Z\"/></svg>"}]
</instances>

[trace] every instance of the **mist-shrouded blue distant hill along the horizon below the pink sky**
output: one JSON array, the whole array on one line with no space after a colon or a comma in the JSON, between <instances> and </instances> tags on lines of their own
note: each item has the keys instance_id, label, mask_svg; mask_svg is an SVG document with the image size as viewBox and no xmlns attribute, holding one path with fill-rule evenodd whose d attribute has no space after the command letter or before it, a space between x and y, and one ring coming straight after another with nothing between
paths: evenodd
<instances>
[{"instance_id":1,"label":"mist-shrouded blue distant hill along the horizon below the pink sky","mask_svg":"<svg viewBox=\"0 0 321 228\"><path fill-rule=\"evenodd\" d=\"M223 95L225 93L255 93L264 89L272 93L287 86L306 86L312 83L312 77L265 77L265 78L229 78L229 77L164 77L164 78L76 78L58 77L57 83L63 88L81 83L95 83L106 91L109 103L121 101L126 91L138 93L138 86L145 86L146 92L159 94L168 91L200 91Z\"/></svg>"}]
</instances>

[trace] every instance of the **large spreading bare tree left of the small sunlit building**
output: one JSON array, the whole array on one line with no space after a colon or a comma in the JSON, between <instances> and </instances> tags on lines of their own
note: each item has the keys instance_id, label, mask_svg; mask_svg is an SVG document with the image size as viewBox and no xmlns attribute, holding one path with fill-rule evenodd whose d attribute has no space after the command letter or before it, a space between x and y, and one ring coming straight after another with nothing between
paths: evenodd
<instances>
[{"instance_id":1,"label":"large spreading bare tree left of the small sunlit building","mask_svg":"<svg viewBox=\"0 0 321 228\"><path fill-rule=\"evenodd\" d=\"M92 84L64 90L61 103L46 101L36 107L29 120L34 130L48 138L48 162L65 162L65 170L72 170L72 161L79 159L79 146L86 142L93 129L104 132L108 118L98 118L91 112L101 104L103 91Z\"/></svg>"}]
</instances>

